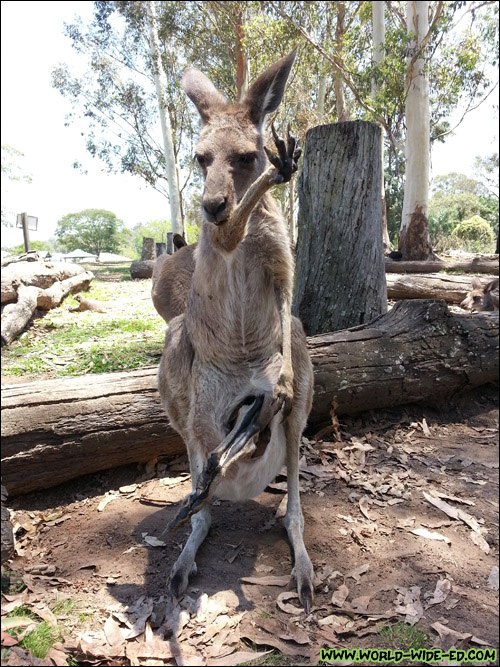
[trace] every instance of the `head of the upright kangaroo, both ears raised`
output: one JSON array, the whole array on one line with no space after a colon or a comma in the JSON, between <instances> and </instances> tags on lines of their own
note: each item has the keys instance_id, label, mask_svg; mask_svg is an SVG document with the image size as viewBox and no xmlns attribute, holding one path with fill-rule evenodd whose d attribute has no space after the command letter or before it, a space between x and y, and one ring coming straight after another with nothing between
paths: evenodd
<instances>
[{"instance_id":1,"label":"head of the upright kangaroo, both ears raised","mask_svg":"<svg viewBox=\"0 0 500 667\"><path fill-rule=\"evenodd\" d=\"M207 222L224 224L264 171L262 124L283 98L295 54L296 49L271 65L236 104L229 103L199 70L189 68L184 73L182 86L203 121L195 158L205 182L202 212Z\"/></svg>"}]
</instances>

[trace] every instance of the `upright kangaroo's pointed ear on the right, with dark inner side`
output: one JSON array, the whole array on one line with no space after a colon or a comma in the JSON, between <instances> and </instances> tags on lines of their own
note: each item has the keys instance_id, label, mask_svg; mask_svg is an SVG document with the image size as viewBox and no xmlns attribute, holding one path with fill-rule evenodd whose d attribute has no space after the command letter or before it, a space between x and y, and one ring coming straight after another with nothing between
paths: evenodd
<instances>
[{"instance_id":1,"label":"upright kangaroo's pointed ear on the right, with dark inner side","mask_svg":"<svg viewBox=\"0 0 500 667\"><path fill-rule=\"evenodd\" d=\"M296 54L297 47L262 72L248 89L242 104L248 108L250 118L255 125L260 126L266 114L276 111L279 107Z\"/></svg>"}]
</instances>

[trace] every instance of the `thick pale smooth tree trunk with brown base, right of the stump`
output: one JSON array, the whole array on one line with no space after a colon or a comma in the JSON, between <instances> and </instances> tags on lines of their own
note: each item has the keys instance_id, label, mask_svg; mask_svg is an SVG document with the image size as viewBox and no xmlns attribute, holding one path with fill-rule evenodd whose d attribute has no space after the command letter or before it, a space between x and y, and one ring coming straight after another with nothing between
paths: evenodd
<instances>
[{"instance_id":1,"label":"thick pale smooth tree trunk with brown base, right of the stump","mask_svg":"<svg viewBox=\"0 0 500 667\"><path fill-rule=\"evenodd\" d=\"M429 3L406 3L408 56L406 115L406 174L398 249L406 260L434 259L429 236L430 122L429 84L423 39L429 30Z\"/></svg>"}]
</instances>

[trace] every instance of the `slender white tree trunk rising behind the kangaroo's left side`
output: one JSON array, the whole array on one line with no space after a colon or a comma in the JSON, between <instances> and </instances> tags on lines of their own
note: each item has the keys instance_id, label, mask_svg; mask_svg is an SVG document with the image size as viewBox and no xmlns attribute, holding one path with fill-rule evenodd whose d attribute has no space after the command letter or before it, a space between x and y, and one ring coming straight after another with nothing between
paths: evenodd
<instances>
[{"instance_id":1,"label":"slender white tree trunk rising behind the kangaroo's left side","mask_svg":"<svg viewBox=\"0 0 500 667\"><path fill-rule=\"evenodd\" d=\"M151 58L153 60L153 76L158 98L158 112L160 114L160 125L163 136L163 152L165 154L165 168L168 180L168 197L170 201L170 220L172 232L186 237L186 230L181 215L181 204L179 195L179 181L177 176L177 164L172 139L172 126L168 115L167 97L163 85L165 71L161 62L160 45L158 39L158 25L156 21L156 10L154 2L146 2L146 15L150 34Z\"/></svg>"}]
</instances>

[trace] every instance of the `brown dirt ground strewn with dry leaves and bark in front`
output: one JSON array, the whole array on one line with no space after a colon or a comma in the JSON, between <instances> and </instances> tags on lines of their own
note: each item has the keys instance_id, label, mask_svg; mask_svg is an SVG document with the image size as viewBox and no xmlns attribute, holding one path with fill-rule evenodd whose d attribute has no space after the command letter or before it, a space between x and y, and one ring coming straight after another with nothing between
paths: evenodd
<instances>
[{"instance_id":1,"label":"brown dirt ground strewn with dry leaves and bark in front","mask_svg":"<svg viewBox=\"0 0 500 667\"><path fill-rule=\"evenodd\" d=\"M214 503L198 573L180 606L169 602L188 529L163 531L190 491L186 457L9 499L18 555L8 569L27 588L4 602L77 602L80 620L67 619L46 664L71 654L235 665L269 649L263 664L318 664L321 647L407 648L387 632L403 621L426 648L498 648L498 387L445 413L406 406L339 422L340 441L333 428L303 445L309 615L289 586L284 476L254 501Z\"/></svg>"}]
</instances>

